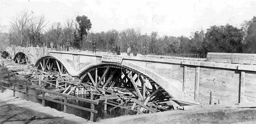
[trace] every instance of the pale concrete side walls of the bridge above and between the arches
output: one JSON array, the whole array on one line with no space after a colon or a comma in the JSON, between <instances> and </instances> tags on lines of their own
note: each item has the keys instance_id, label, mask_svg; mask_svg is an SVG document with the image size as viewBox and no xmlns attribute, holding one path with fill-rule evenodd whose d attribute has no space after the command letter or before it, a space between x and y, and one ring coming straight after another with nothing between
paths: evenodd
<instances>
[{"instance_id":1,"label":"pale concrete side walls of the bridge above and between the arches","mask_svg":"<svg viewBox=\"0 0 256 124\"><path fill-rule=\"evenodd\" d=\"M62 63L73 77L81 78L89 67L102 62L102 54L55 51L44 49L44 56L23 52L39 66L52 58ZM16 50L17 52L19 50ZM37 50L42 52L42 50ZM110 63L111 64L111 63ZM162 87L172 99L190 103L250 103L256 102L256 66L218 62L124 56L121 66L132 69Z\"/></svg>"}]
</instances>

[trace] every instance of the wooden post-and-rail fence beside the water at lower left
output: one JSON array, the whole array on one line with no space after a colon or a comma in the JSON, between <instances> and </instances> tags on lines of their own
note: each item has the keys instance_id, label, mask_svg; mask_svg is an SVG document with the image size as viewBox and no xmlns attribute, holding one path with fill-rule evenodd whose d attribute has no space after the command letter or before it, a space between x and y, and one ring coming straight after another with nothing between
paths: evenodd
<instances>
[{"instance_id":1,"label":"wooden post-and-rail fence beside the water at lower left","mask_svg":"<svg viewBox=\"0 0 256 124\"><path fill-rule=\"evenodd\" d=\"M10 86L10 87L8 87L8 86ZM26 91L18 90L18 87L25 88ZM97 111L94 110L94 107L99 102L96 101L96 100L93 100L93 94L91 94L91 99L84 99L84 98L79 98L79 97L75 97L75 96L71 96L71 95L58 93L58 92L55 92L55 91L48 91L48 90L44 90L44 89L38 89L38 88L35 88L35 87L30 87L30 86L27 85L27 83L26 83L26 85L23 85L23 84L12 83L12 82L8 82L8 81L0 80L0 90L1 90L2 93L4 92L4 89L12 90L13 91L13 96L15 96L16 92L20 92L22 94L25 94L26 95L26 100L28 100L29 95L35 96L39 99L42 99L42 106L43 107L45 107L45 100L52 101L52 102L55 102L55 103L60 103L60 104L64 105L63 112L65 112L65 113L66 113L66 110L67 110L66 109L67 106L75 107L75 108L78 108L78 109L81 109L81 110L84 110L84 111L91 112L91 115L90 115L90 120L91 121L93 121L94 114L97 114ZM29 90L35 90L35 91L38 91L38 92L42 92L42 96L31 94L32 92L29 93L28 92ZM45 97L45 93L63 97L64 102L47 98L47 97ZM77 106L77 105L74 105L74 104L71 104L71 103L67 103L67 99L74 99L74 100L79 100L79 101L82 101L82 102L85 102L85 103L91 103L91 108L89 109L89 108L86 108L86 107L80 107L80 106Z\"/></svg>"}]
</instances>

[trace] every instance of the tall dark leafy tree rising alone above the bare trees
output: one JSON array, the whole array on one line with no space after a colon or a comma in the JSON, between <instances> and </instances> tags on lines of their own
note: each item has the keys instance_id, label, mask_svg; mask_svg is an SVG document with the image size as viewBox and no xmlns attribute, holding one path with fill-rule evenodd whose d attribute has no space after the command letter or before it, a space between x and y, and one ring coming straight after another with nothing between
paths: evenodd
<instances>
[{"instance_id":1,"label":"tall dark leafy tree rising alone above the bare trees","mask_svg":"<svg viewBox=\"0 0 256 124\"><path fill-rule=\"evenodd\" d=\"M79 24L79 27L76 26L77 33L78 33L78 37L76 36L76 38L79 38L79 39L75 39L75 41L79 41L79 43L75 43L75 46L77 48L80 48L80 45L81 45L80 41L82 42L84 39L84 36L88 35L88 31L92 28L92 23L90 19L88 19L88 17L84 15L77 16L75 20Z\"/></svg>"}]
</instances>

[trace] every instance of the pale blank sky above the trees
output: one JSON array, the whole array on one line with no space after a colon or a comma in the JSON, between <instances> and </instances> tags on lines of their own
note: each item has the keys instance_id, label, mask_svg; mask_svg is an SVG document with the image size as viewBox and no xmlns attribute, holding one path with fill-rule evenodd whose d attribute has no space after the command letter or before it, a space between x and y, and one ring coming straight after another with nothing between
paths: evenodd
<instances>
[{"instance_id":1,"label":"pale blank sky above the trees","mask_svg":"<svg viewBox=\"0 0 256 124\"><path fill-rule=\"evenodd\" d=\"M53 22L64 26L67 19L85 15L94 33L140 28L142 34L190 37L213 25L240 28L256 16L256 0L0 0L0 31L8 31L23 10L43 14L49 26Z\"/></svg>"}]
</instances>

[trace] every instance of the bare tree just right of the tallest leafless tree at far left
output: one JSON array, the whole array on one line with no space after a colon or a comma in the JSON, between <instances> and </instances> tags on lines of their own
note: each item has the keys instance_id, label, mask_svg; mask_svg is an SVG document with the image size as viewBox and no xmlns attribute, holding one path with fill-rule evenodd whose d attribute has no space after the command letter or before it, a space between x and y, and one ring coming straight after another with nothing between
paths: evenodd
<instances>
[{"instance_id":1,"label":"bare tree just right of the tallest leafless tree at far left","mask_svg":"<svg viewBox=\"0 0 256 124\"><path fill-rule=\"evenodd\" d=\"M45 17L42 15L40 17L31 17L28 23L33 36L34 44L36 45L38 41L40 41L42 29L48 24L48 22L46 22Z\"/></svg>"}]
</instances>

